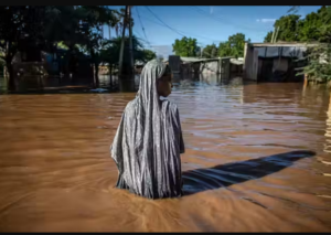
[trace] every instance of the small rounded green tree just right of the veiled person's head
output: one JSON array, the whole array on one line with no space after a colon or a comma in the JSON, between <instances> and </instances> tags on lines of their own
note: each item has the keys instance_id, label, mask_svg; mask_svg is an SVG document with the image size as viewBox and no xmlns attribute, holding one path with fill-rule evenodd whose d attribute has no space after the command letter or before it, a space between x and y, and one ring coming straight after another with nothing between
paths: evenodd
<instances>
[{"instance_id":1,"label":"small rounded green tree just right of the veiled person's head","mask_svg":"<svg viewBox=\"0 0 331 235\"><path fill-rule=\"evenodd\" d=\"M172 51L179 56L196 56L200 47L196 44L196 39L183 36L181 40L175 40L172 44Z\"/></svg>"}]
</instances>

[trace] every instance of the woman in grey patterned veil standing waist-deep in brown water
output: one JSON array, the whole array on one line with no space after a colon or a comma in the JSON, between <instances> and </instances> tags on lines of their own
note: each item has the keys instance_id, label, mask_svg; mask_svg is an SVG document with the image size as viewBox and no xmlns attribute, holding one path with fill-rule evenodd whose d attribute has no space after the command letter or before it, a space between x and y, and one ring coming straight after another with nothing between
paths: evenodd
<instances>
[{"instance_id":1,"label":"woman in grey patterned veil standing waist-deep in brown water","mask_svg":"<svg viewBox=\"0 0 331 235\"><path fill-rule=\"evenodd\" d=\"M171 71L161 61L142 68L136 98L128 103L110 147L119 175L117 188L149 199L182 195L180 153L184 152Z\"/></svg>"}]
</instances>

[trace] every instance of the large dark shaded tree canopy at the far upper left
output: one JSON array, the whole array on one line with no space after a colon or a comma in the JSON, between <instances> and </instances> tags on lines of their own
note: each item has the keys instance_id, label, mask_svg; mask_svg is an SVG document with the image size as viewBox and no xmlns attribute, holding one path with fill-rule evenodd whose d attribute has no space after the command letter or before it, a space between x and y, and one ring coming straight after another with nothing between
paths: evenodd
<instances>
[{"instance_id":1,"label":"large dark shaded tree canopy at the far upper left","mask_svg":"<svg viewBox=\"0 0 331 235\"><path fill-rule=\"evenodd\" d=\"M0 53L9 72L9 89L15 88L11 63L18 51L53 51L63 42L70 52L85 47L96 63L100 26L116 22L116 11L105 6L0 7Z\"/></svg>"}]
</instances>

